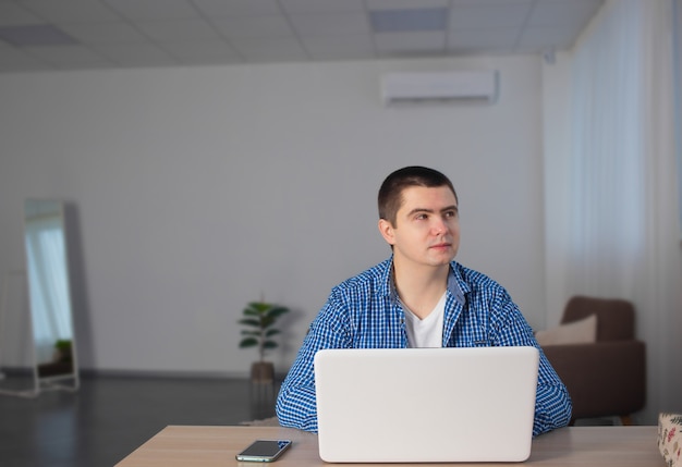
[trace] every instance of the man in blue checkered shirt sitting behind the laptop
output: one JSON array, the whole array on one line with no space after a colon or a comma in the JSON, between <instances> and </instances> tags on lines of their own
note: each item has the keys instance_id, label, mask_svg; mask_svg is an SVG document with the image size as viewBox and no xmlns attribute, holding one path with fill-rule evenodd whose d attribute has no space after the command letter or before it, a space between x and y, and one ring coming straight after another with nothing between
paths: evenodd
<instances>
[{"instance_id":1,"label":"man in blue checkered shirt sitting behind the laptop","mask_svg":"<svg viewBox=\"0 0 682 467\"><path fill-rule=\"evenodd\" d=\"M539 348L507 291L453 260L458 197L446 175L400 169L383 181L378 198L379 232L392 256L331 291L282 383L277 415L284 427L317 431L313 359L321 348ZM570 419L568 391L540 351L533 435Z\"/></svg>"}]
</instances>

